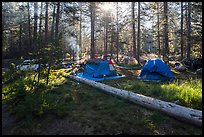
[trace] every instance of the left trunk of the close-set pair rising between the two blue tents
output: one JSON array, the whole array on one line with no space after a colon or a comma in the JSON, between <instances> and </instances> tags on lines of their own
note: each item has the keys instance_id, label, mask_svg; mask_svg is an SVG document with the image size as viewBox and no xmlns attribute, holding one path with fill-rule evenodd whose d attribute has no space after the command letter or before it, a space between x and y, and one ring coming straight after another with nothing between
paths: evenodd
<instances>
[{"instance_id":1,"label":"left trunk of the close-set pair rising between the two blue tents","mask_svg":"<svg viewBox=\"0 0 204 137\"><path fill-rule=\"evenodd\" d=\"M135 2L132 2L132 44L133 44L132 45L133 46L133 57L137 59L136 36L135 36ZM138 61L138 59L137 59L137 61Z\"/></svg>"}]
</instances>

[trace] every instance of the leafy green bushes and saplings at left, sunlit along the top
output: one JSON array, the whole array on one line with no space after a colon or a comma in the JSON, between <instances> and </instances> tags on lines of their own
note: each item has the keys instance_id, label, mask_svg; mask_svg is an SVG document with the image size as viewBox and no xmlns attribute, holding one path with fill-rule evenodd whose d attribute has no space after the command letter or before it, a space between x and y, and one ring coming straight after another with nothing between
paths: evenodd
<instances>
[{"instance_id":1,"label":"leafy green bushes and saplings at left, sunlit along the top","mask_svg":"<svg viewBox=\"0 0 204 137\"><path fill-rule=\"evenodd\" d=\"M46 85L45 81L36 85L35 80L33 80L34 75L36 75L34 72L23 73L26 73L24 77L19 75L17 79L4 85L2 89L3 99L10 104L12 113L17 118L24 119L25 124L29 125L34 118L47 113L60 117L67 114L68 106L66 103L71 100L70 95L59 96L59 94L49 91L64 81L65 72L61 70L52 72L50 85Z\"/></svg>"}]
</instances>

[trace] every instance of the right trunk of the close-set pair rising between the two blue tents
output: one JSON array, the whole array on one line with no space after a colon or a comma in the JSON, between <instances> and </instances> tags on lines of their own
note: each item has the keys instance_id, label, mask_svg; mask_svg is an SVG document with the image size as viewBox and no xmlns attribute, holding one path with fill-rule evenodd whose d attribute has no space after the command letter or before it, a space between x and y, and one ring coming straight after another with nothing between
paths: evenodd
<instances>
[{"instance_id":1,"label":"right trunk of the close-set pair rising between the two blue tents","mask_svg":"<svg viewBox=\"0 0 204 137\"><path fill-rule=\"evenodd\" d=\"M140 2L138 2L137 61L140 64Z\"/></svg>"}]
</instances>

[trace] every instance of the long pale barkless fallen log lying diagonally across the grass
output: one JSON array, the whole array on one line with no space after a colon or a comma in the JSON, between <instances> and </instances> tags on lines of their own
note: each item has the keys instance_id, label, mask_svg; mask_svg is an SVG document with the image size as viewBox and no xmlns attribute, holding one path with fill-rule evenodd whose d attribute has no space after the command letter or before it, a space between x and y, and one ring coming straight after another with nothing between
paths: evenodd
<instances>
[{"instance_id":1,"label":"long pale barkless fallen log lying diagonally across the grass","mask_svg":"<svg viewBox=\"0 0 204 137\"><path fill-rule=\"evenodd\" d=\"M187 108L172 102L166 102L159 99L147 97L141 94L133 93L131 91L114 88L99 82L80 78L78 76L69 75L69 77L95 88L104 90L108 93L121 96L150 109L162 111L169 116L175 117L178 120L193 124L198 127L202 127L202 111L200 110Z\"/></svg>"}]
</instances>

